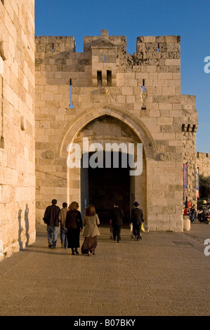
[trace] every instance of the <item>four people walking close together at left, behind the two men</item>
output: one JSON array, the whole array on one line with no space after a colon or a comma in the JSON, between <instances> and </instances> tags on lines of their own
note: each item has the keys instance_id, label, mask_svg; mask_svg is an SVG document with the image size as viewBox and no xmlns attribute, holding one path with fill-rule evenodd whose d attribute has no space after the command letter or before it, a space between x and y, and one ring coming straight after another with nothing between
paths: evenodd
<instances>
[{"instance_id":1,"label":"four people walking close together at left, behind the two men","mask_svg":"<svg viewBox=\"0 0 210 330\"><path fill-rule=\"evenodd\" d=\"M47 225L48 247L56 248L60 223L61 247L72 249L72 255L79 254L79 235L83 232L84 243L81 246L81 253L88 256L91 253L95 254L97 237L100 235L98 230L100 222L95 207L89 204L82 220L77 202L72 202L68 209L67 203L63 203L63 209L56 204L57 200L53 199L52 205L47 206L43 218ZM85 226L84 231L83 226Z\"/></svg>"}]
</instances>

